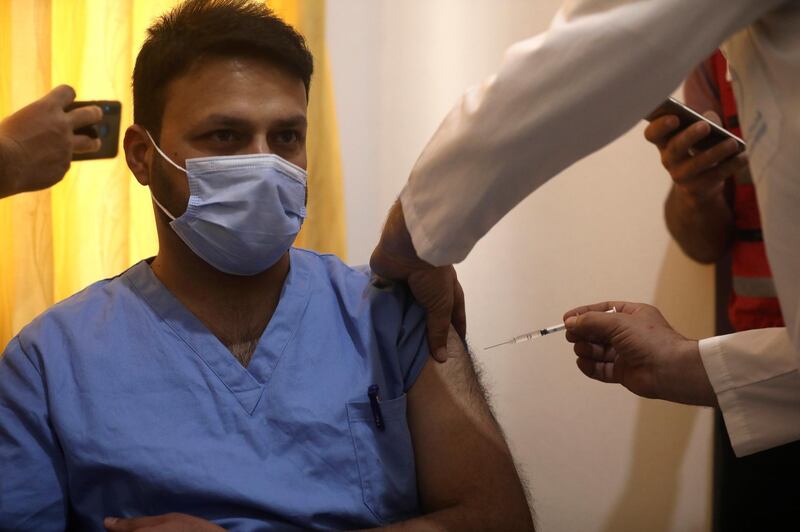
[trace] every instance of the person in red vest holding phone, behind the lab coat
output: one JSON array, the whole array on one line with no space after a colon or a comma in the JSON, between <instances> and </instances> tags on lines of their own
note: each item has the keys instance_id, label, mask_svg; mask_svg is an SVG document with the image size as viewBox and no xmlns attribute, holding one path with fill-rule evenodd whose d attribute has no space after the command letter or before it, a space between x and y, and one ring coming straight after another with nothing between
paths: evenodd
<instances>
[{"instance_id":1,"label":"person in red vest holding phone, behind the lab coat","mask_svg":"<svg viewBox=\"0 0 800 532\"><path fill-rule=\"evenodd\" d=\"M728 64L720 51L686 79L684 99L742 136ZM670 234L691 259L718 263L718 284L728 288L728 320L734 331L783 327L747 158L736 155L732 144L694 149L709 127L697 123L675 134L676 120L664 116L645 130L673 180L664 205ZM790 489L800 477L800 442L737 459L721 414L716 421L714 529L755 530L767 523L800 528Z\"/></svg>"}]
</instances>

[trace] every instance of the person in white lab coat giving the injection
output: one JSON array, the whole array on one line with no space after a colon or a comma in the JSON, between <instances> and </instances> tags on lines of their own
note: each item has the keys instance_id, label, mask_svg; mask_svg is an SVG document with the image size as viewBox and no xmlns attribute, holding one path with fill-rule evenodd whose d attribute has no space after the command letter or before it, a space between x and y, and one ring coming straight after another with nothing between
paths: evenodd
<instances>
[{"instance_id":1,"label":"person in white lab coat giving the injection","mask_svg":"<svg viewBox=\"0 0 800 532\"><path fill-rule=\"evenodd\" d=\"M407 282L427 310L434 357L447 359L451 322L466 330L452 265L523 198L633 127L722 45L786 327L690 340L657 309L615 300L565 313L566 337L589 378L719 406L737 456L800 440L798 28L797 0L573 0L548 31L512 46L423 150L370 260L377 277ZM575 256L591 264L582 252ZM602 312L612 307L620 312Z\"/></svg>"}]
</instances>

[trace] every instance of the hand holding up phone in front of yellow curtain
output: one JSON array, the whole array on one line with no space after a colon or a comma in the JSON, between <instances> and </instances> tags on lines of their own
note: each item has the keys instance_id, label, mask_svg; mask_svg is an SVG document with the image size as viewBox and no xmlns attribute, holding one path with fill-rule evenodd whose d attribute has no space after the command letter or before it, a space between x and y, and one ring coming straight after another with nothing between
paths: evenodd
<instances>
[{"instance_id":1,"label":"hand holding up phone in front of yellow curtain","mask_svg":"<svg viewBox=\"0 0 800 532\"><path fill-rule=\"evenodd\" d=\"M61 85L0 121L0 198L50 187L69 170L73 153L100 149L100 140L74 131L103 117L99 107L65 111L75 91Z\"/></svg>"}]
</instances>

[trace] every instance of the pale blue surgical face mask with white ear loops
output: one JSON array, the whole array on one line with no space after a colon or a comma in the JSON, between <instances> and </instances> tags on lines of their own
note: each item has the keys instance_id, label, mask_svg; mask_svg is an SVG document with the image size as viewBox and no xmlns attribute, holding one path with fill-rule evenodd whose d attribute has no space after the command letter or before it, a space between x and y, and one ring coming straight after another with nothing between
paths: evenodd
<instances>
[{"instance_id":1,"label":"pale blue surgical face mask with white ear loops","mask_svg":"<svg viewBox=\"0 0 800 532\"><path fill-rule=\"evenodd\" d=\"M306 171L272 154L199 157L175 164L189 179L186 212L170 227L194 253L233 275L255 275L286 253L306 217Z\"/></svg>"}]
</instances>

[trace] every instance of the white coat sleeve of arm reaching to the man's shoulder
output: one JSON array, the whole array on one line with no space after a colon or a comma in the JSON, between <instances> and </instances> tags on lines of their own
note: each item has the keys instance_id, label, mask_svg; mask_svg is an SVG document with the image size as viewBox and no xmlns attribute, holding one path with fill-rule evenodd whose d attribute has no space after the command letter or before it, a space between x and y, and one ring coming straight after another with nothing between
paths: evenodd
<instances>
[{"instance_id":1,"label":"white coat sleeve of arm reaching to the man's shoulder","mask_svg":"<svg viewBox=\"0 0 800 532\"><path fill-rule=\"evenodd\" d=\"M634 126L727 36L783 1L584 1L513 45L497 75L450 111L400 195L419 256L463 260L517 203Z\"/></svg>"}]
</instances>

